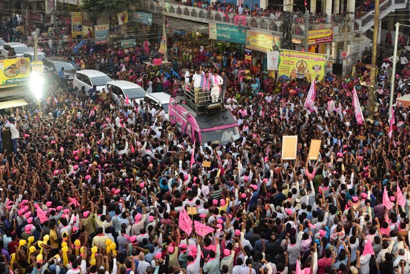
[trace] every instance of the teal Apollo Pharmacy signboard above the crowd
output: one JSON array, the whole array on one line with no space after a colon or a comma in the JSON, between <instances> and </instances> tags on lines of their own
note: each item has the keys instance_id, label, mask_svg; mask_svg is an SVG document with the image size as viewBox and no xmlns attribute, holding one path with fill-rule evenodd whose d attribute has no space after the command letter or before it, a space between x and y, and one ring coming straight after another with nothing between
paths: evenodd
<instances>
[{"instance_id":1,"label":"teal Apollo Pharmacy signboard above the crowd","mask_svg":"<svg viewBox=\"0 0 410 274\"><path fill-rule=\"evenodd\" d=\"M209 23L209 38L236 44L246 44L247 28L229 24Z\"/></svg>"}]
</instances>

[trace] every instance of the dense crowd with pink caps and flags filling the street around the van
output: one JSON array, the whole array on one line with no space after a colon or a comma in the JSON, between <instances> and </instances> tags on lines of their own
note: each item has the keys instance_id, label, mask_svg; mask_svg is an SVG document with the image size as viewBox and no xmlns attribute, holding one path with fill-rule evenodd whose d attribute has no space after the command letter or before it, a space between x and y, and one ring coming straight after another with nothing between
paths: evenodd
<instances>
[{"instance_id":1,"label":"dense crowd with pink caps and flags filling the street around the van","mask_svg":"<svg viewBox=\"0 0 410 274\"><path fill-rule=\"evenodd\" d=\"M1 273L410 272L410 115L395 108L389 138L389 68L375 117L358 124L363 63L314 79L310 110L312 83L278 79L236 48L176 43L163 69L141 62L151 50L60 54L78 69L112 65L115 79L148 92L178 94L198 68L216 73L239 138L194 144L157 106L80 94L50 76L41 101L2 116L13 151L0 154ZM298 135L296 160L281 158L283 135ZM312 139L322 142L316 161Z\"/></svg>"}]
</instances>

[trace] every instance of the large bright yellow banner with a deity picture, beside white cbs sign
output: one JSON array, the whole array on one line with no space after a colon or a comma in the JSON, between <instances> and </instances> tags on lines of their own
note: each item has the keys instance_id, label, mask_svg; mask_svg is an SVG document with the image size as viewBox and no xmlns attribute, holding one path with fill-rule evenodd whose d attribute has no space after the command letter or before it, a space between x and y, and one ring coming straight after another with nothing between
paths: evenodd
<instances>
[{"instance_id":1,"label":"large bright yellow banner with a deity picture, beside white cbs sign","mask_svg":"<svg viewBox=\"0 0 410 274\"><path fill-rule=\"evenodd\" d=\"M291 81L302 80L306 77L308 82L312 82L318 76L321 81L324 77L326 63L326 54L281 49L278 75L284 78L289 77Z\"/></svg>"}]
</instances>

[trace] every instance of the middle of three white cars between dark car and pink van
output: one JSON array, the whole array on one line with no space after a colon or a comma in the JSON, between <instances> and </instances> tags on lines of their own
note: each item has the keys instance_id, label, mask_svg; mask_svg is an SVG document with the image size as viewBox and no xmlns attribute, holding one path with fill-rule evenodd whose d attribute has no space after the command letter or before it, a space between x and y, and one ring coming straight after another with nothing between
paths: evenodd
<instances>
[{"instance_id":1,"label":"middle of three white cars between dark car and pink van","mask_svg":"<svg viewBox=\"0 0 410 274\"><path fill-rule=\"evenodd\" d=\"M107 82L106 90L108 91L111 89L111 98L115 100L117 104L121 104L121 99L126 99L128 95L128 99L137 99L139 103L139 99L144 99L147 92L141 88L139 85L134 84L128 81L110 81Z\"/></svg>"}]
</instances>

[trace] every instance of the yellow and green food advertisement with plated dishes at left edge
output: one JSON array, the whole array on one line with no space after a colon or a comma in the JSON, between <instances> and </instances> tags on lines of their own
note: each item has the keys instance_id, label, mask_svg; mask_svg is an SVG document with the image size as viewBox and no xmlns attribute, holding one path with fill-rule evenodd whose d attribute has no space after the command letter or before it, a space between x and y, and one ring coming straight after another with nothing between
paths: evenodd
<instances>
[{"instance_id":1,"label":"yellow and green food advertisement with plated dishes at left edge","mask_svg":"<svg viewBox=\"0 0 410 274\"><path fill-rule=\"evenodd\" d=\"M0 85L12 85L29 81L29 58L0 60Z\"/></svg>"}]
</instances>

